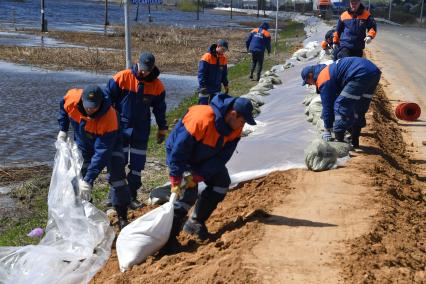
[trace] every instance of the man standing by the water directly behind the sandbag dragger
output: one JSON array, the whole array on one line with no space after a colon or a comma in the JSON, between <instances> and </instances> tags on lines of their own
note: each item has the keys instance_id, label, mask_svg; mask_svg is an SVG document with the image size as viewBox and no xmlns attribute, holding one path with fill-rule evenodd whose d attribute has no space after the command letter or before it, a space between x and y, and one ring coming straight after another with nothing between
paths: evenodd
<instances>
[{"instance_id":1,"label":"man standing by the water directly behind the sandbag dragger","mask_svg":"<svg viewBox=\"0 0 426 284\"><path fill-rule=\"evenodd\" d=\"M198 63L198 104L208 105L221 92L222 84L225 93L229 92L227 51L228 42L220 39L201 57Z\"/></svg>"}]
</instances>

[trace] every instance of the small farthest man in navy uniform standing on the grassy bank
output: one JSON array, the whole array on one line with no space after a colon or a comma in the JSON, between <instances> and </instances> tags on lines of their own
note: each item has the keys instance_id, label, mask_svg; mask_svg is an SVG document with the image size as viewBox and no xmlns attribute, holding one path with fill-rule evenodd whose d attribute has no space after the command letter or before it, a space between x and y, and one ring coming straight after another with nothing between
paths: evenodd
<instances>
[{"instance_id":1,"label":"small farthest man in navy uniform standing on the grassy bank","mask_svg":"<svg viewBox=\"0 0 426 284\"><path fill-rule=\"evenodd\" d=\"M265 58L265 49L268 54L271 53L271 34L268 32L269 24L263 22L260 27L253 29L246 40L247 52L251 53L252 63L250 70L250 80L259 81L262 73L263 60ZM256 79L253 79L253 73L257 66Z\"/></svg>"}]
</instances>

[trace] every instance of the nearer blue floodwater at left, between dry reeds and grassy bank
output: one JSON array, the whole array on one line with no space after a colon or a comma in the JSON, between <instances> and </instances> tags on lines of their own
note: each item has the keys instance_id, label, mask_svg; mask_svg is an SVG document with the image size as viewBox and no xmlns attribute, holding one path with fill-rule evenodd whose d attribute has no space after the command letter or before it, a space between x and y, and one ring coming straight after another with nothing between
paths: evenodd
<instances>
[{"instance_id":1,"label":"nearer blue floodwater at left, between dry reeds and grassy bank","mask_svg":"<svg viewBox=\"0 0 426 284\"><path fill-rule=\"evenodd\" d=\"M70 88L104 86L111 75L54 72L0 62L0 167L49 164L55 155L60 99ZM160 78L169 110L197 87L193 76L161 74Z\"/></svg>"}]
</instances>

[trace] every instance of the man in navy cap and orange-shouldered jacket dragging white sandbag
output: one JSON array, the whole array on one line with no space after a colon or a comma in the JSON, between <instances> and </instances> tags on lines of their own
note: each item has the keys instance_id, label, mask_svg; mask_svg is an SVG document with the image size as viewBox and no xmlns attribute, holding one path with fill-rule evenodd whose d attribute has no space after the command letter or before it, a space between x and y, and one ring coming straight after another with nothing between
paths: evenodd
<instances>
[{"instance_id":1,"label":"man in navy cap and orange-shouldered jacket dragging white sandbag","mask_svg":"<svg viewBox=\"0 0 426 284\"><path fill-rule=\"evenodd\" d=\"M256 125L252 111L250 100L219 94L210 105L189 108L170 133L166 141L167 165L172 192L180 197L174 204L171 234L163 248L165 253L179 250L176 237L195 203L183 230L200 239L208 238L205 222L225 198L231 183L225 164L237 147L244 124ZM186 171L192 176L186 178L188 189L181 192ZM198 183L202 181L207 187L198 194Z\"/></svg>"}]
</instances>

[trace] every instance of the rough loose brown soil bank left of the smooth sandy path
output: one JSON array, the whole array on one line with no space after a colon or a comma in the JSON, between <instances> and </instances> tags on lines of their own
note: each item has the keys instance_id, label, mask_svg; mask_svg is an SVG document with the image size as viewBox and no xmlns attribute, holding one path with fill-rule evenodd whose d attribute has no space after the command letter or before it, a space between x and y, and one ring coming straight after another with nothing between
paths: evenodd
<instances>
[{"instance_id":1,"label":"rough loose brown soil bank left of the smooth sandy path","mask_svg":"<svg viewBox=\"0 0 426 284\"><path fill-rule=\"evenodd\" d=\"M92 283L255 283L256 275L243 265L242 252L262 237L262 223L291 190L295 171L273 173L230 191L207 222L209 240L200 242L181 233L182 252L149 257L125 273L119 272L113 250Z\"/></svg>"}]
</instances>

